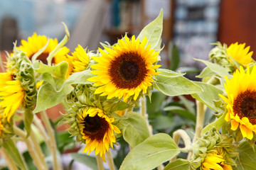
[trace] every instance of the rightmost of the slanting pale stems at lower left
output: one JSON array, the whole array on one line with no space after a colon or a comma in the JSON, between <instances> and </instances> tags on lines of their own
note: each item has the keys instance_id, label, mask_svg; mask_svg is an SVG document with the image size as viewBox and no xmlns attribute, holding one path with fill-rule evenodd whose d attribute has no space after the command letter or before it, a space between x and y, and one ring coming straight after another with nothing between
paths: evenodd
<instances>
[{"instance_id":1,"label":"rightmost of the slanting pale stems at lower left","mask_svg":"<svg viewBox=\"0 0 256 170\"><path fill-rule=\"evenodd\" d=\"M56 145L56 140L55 140L55 133L50 125L50 121L48 119L48 115L46 114L46 111L41 112L41 118L43 120L43 123L46 125L46 130L49 134L50 137L50 152L53 155L53 169L54 170L60 170L60 162L58 162L58 157L57 157L57 145Z\"/></svg>"}]
</instances>

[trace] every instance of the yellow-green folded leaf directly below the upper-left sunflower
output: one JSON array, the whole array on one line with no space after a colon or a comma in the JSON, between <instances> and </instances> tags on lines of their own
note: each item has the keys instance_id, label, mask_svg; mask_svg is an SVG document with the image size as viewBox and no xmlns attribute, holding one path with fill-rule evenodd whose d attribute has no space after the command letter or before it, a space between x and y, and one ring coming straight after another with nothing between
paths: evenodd
<instances>
[{"instance_id":1,"label":"yellow-green folded leaf directly below the upper-left sunflower","mask_svg":"<svg viewBox=\"0 0 256 170\"><path fill-rule=\"evenodd\" d=\"M60 62L55 66L48 66L36 60L36 62L33 63L33 69L40 74L50 73L53 74L54 77L65 79L65 75L68 71L68 62Z\"/></svg>"}]
</instances>

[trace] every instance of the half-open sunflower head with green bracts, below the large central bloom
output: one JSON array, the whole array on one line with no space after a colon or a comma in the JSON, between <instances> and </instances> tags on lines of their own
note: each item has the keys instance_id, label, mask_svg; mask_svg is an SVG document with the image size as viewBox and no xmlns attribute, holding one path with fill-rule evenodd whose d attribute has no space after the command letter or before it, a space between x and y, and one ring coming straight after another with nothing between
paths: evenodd
<instances>
[{"instance_id":1,"label":"half-open sunflower head with green bracts, below the large central bloom","mask_svg":"<svg viewBox=\"0 0 256 170\"><path fill-rule=\"evenodd\" d=\"M105 152L116 142L115 133L120 130L113 125L114 118L110 117L110 110L105 111L105 104L94 96L94 91L85 85L75 86L75 90L67 98L66 114L63 121L70 125L68 132L76 140L85 143L84 152L95 154L105 160Z\"/></svg>"}]
</instances>

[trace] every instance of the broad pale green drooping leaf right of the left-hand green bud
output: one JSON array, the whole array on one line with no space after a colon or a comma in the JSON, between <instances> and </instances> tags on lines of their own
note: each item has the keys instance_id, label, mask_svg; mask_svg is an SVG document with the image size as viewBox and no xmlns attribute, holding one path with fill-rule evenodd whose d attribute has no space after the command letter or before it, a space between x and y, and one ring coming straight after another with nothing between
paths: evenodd
<instances>
[{"instance_id":1,"label":"broad pale green drooping leaf right of the left-hand green bud","mask_svg":"<svg viewBox=\"0 0 256 170\"><path fill-rule=\"evenodd\" d=\"M66 95L70 94L73 90L72 86L64 86L60 91L56 91L55 88L48 83L43 85L38 90L38 96L36 100L36 108L33 113L45 111L47 108L51 108L63 101Z\"/></svg>"}]
</instances>

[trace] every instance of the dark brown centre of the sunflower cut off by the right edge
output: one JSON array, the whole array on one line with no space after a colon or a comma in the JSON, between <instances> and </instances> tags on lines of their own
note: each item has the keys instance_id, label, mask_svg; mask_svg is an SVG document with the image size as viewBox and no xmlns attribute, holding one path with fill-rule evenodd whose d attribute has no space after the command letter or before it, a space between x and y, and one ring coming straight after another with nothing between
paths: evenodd
<instances>
[{"instance_id":1,"label":"dark brown centre of the sunflower cut off by the right edge","mask_svg":"<svg viewBox=\"0 0 256 170\"><path fill-rule=\"evenodd\" d=\"M233 111L240 119L247 117L252 125L256 125L256 91L239 94L233 103Z\"/></svg>"}]
</instances>

